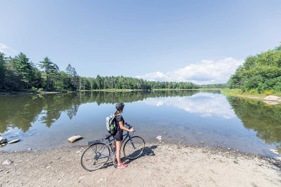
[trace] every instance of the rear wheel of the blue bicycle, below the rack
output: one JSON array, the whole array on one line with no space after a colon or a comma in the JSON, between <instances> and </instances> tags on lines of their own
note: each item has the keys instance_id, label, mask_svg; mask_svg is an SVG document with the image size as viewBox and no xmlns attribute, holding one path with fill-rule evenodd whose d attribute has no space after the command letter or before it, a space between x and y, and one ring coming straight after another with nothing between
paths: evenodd
<instances>
[{"instance_id":1,"label":"rear wheel of the blue bicycle, below the rack","mask_svg":"<svg viewBox=\"0 0 281 187\"><path fill-rule=\"evenodd\" d=\"M80 159L80 163L84 169L95 171L102 168L107 163L110 150L108 146L104 146L104 143L96 143L85 149Z\"/></svg>"}]
</instances>

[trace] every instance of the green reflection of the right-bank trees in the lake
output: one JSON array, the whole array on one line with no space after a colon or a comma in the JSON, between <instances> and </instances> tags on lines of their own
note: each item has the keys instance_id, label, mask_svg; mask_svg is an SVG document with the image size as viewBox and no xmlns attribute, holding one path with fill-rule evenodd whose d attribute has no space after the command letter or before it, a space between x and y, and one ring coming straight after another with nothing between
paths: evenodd
<instances>
[{"instance_id":1,"label":"green reflection of the right-bank trees in the lake","mask_svg":"<svg viewBox=\"0 0 281 187\"><path fill-rule=\"evenodd\" d=\"M253 129L266 144L274 144L281 152L281 105L237 97L227 100L246 129Z\"/></svg>"}]
</instances>

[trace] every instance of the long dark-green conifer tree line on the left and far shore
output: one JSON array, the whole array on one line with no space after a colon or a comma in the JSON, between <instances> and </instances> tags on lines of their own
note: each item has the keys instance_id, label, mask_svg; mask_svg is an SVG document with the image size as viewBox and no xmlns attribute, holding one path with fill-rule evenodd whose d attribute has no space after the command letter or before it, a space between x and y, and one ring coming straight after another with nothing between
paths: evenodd
<instances>
[{"instance_id":1,"label":"long dark-green conifer tree line on the left and far shore","mask_svg":"<svg viewBox=\"0 0 281 187\"><path fill-rule=\"evenodd\" d=\"M37 66L40 68L38 69ZM70 64L61 71L48 57L37 64L24 53L6 57L0 51L0 89L36 90L95 90L95 89L198 89L190 82L156 82L133 77L81 77Z\"/></svg>"}]
</instances>

